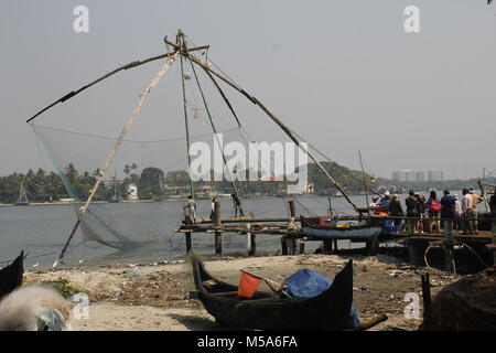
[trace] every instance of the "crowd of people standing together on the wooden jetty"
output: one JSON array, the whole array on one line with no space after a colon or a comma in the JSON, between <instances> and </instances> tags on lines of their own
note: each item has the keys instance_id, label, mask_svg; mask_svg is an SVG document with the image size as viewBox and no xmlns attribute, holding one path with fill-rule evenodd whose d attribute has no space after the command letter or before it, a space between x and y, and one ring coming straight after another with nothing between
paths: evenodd
<instances>
[{"instance_id":1,"label":"crowd of people standing together on the wooden jetty","mask_svg":"<svg viewBox=\"0 0 496 353\"><path fill-rule=\"evenodd\" d=\"M375 214L392 217L407 217L407 226L412 232L439 234L441 231L441 221L443 228L460 229L463 234L477 234L477 205L484 199L476 194L473 188L463 189L462 197L452 195L449 190L443 191L443 196L438 199L436 192L431 191L429 199L422 193L409 192L405 200L406 212L403 212L401 202L397 195L385 193L379 201L379 196L371 197ZM493 217L496 218L496 189L489 199L489 207ZM416 220L408 220L409 217ZM402 225L403 220L395 218L395 225Z\"/></svg>"}]
</instances>

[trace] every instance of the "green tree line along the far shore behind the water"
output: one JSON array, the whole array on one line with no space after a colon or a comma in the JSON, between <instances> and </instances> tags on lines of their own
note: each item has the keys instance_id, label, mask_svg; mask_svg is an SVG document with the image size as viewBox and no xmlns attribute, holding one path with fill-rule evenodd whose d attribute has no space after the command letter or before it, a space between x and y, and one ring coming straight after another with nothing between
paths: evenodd
<instances>
[{"instance_id":1,"label":"green tree line along the far shore behind the water","mask_svg":"<svg viewBox=\"0 0 496 353\"><path fill-rule=\"evenodd\" d=\"M348 192L358 192L364 190L363 175L359 171L349 170L337 163L322 162L323 167L333 178L338 181ZM125 178L115 181L119 184L121 199L127 199L127 190L129 184L138 185L140 199L153 199L162 196L164 185L169 186L187 186L190 176L187 171L176 170L169 171L166 174L154 167L144 168L138 173L139 165L137 163L126 164L122 172ZM248 178L248 171L245 171ZM21 183L24 185L30 202L51 202L60 199L76 197L85 200L91 188L95 185L99 170L78 171L73 163L69 163L64 172L58 175L51 171L39 169L37 171L29 170L28 173L14 172L7 176L0 176L0 202L12 203L20 196ZM68 191L66 190L62 178L67 181ZM334 191L335 188L317 168L316 164L308 165L309 182L314 184L315 191L319 193ZM366 175L368 182L371 178ZM228 181L195 183L195 186L209 184L209 186L218 190L233 190L231 183ZM237 188L242 194L278 194L284 186L283 181L245 181L237 182ZM95 194L95 201L106 201L114 196L115 188L111 176L107 179Z\"/></svg>"}]
</instances>

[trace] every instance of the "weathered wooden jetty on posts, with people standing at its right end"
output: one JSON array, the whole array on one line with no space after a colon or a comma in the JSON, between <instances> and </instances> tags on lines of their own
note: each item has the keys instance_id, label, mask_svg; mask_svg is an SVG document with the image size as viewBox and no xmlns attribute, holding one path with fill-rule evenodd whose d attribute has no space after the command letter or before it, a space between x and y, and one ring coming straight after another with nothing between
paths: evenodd
<instances>
[{"instance_id":1,"label":"weathered wooden jetty on posts, with people standing at its right end","mask_svg":"<svg viewBox=\"0 0 496 353\"><path fill-rule=\"evenodd\" d=\"M186 237L186 252L191 250L191 234L203 233L215 235L215 253L222 254L222 234L235 233L247 236L248 255L256 253L256 235L266 234L280 236L281 255L296 255L304 253L305 242L322 242L323 250L337 252L336 240L322 240L305 236L302 233L300 217L295 216L294 201L289 201L290 214L288 217L280 218L255 218L236 217L220 218L220 203L216 203L213 218L200 218L194 224L184 224L176 233L183 233ZM359 216L339 217L339 221L357 221ZM363 220L384 218L378 216L365 216ZM401 218L402 221L425 221L425 218L411 217L388 217ZM436 221L432 218L433 221ZM441 220L440 220L441 221ZM444 220L445 221L445 220ZM479 231L478 234L467 235L462 231L452 231L451 228L441 229L440 233L414 233L400 232L397 234L381 234L378 238L366 242L365 254L375 256L379 250L379 243L397 243L408 248L409 260L412 265L429 266L425 253L434 249L444 254L443 267L445 270L456 270L454 268L453 256L463 249L473 253L473 260L478 261L481 266L486 267L496 264L494 259L496 249L496 220L492 221L492 231ZM190 240L187 240L190 239ZM348 238L351 242L364 243L363 239Z\"/></svg>"}]
</instances>

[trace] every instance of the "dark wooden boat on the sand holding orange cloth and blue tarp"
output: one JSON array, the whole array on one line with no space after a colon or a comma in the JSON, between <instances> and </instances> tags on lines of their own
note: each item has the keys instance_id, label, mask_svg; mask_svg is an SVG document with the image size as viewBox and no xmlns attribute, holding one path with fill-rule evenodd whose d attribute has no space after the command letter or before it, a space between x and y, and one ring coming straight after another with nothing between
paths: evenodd
<instances>
[{"instance_id":1,"label":"dark wooden boat on the sand holding orange cloth and blue tarp","mask_svg":"<svg viewBox=\"0 0 496 353\"><path fill-rule=\"evenodd\" d=\"M237 297L238 287L211 276L192 256L196 291L216 320L231 327L260 330L344 330L353 302L353 261L338 272L333 285L310 299L292 299L283 293L257 292L251 299Z\"/></svg>"}]
</instances>

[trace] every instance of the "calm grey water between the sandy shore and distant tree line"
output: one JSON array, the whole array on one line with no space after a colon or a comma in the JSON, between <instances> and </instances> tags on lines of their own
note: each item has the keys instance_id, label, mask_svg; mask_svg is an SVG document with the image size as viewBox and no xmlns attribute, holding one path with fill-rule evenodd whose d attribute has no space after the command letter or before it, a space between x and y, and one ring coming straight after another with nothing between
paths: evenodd
<instances>
[{"instance_id":1,"label":"calm grey water between the sandy shore and distant tree line","mask_svg":"<svg viewBox=\"0 0 496 353\"><path fill-rule=\"evenodd\" d=\"M406 195L400 195L403 201ZM352 196L358 206L365 205L365 197ZM324 215L328 208L327 197L303 196L298 199L296 214ZM173 229L181 222L181 210L184 202L143 202L100 204L107 207L110 215L106 220L110 226L138 242L149 242L137 249L120 252L96 242L83 242L83 234L77 231L65 257L67 265L83 264L123 264L140 261L160 261L180 258L184 255L184 237L174 234ZM332 199L335 211L353 214L352 207L343 197ZM208 217L211 202L198 200L198 216ZM252 212L257 217L285 217L288 215L284 199L267 197L245 201L246 213ZM223 216L230 216L231 201L222 200ZM118 215L112 218L112 215ZM72 205L40 206L1 206L0 207L0 261L13 259L21 249L29 250L26 268L51 267L58 257L76 214ZM319 242L306 245L306 252L312 252ZM343 242L341 246L351 246ZM193 234L193 248L205 255L214 254L213 234ZM280 236L257 235L257 253L274 252L280 248ZM246 254L246 236L238 234L223 235L224 254ZM6 264L0 264L0 267Z\"/></svg>"}]
</instances>

